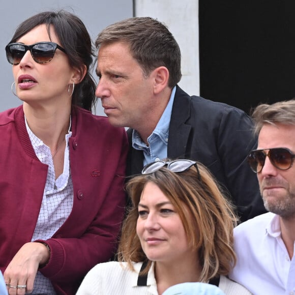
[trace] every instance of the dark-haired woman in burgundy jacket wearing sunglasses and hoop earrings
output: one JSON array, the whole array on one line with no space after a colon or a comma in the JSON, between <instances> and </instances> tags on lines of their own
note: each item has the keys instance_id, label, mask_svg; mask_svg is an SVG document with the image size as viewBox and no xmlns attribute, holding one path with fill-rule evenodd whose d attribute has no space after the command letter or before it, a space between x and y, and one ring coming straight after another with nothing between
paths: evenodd
<instances>
[{"instance_id":1,"label":"dark-haired woman in burgundy jacket wearing sunglasses and hoop earrings","mask_svg":"<svg viewBox=\"0 0 295 295\"><path fill-rule=\"evenodd\" d=\"M6 46L21 106L0 113L0 269L9 294L75 294L124 216L127 137L95 108L91 38L66 11Z\"/></svg>"}]
</instances>

